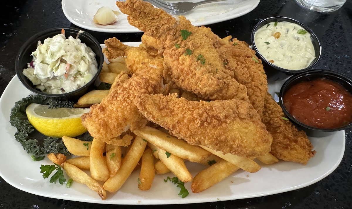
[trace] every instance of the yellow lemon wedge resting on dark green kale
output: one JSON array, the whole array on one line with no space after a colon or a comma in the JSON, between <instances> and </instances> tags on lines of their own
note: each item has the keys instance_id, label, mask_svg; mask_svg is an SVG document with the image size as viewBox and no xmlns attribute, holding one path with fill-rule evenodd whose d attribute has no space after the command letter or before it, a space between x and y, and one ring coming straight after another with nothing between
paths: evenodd
<instances>
[{"instance_id":1,"label":"yellow lemon wedge resting on dark green kale","mask_svg":"<svg viewBox=\"0 0 352 209\"><path fill-rule=\"evenodd\" d=\"M31 103L26 114L29 122L40 133L48 137L76 137L86 132L81 115L88 113L89 108L53 108L49 105Z\"/></svg>"}]
</instances>

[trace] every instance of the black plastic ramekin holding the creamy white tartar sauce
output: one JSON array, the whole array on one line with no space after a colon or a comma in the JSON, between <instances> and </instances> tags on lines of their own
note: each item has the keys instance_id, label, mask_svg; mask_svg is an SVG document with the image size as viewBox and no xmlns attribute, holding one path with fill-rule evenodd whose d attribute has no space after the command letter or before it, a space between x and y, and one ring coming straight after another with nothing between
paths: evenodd
<instances>
[{"instance_id":1,"label":"black plastic ramekin holding the creamy white tartar sauce","mask_svg":"<svg viewBox=\"0 0 352 209\"><path fill-rule=\"evenodd\" d=\"M297 25L302 26L304 28L304 30L306 30L306 31L308 31L308 33L310 33L310 39L312 40L314 50L315 50L315 59L312 61L312 63L310 63L310 65L307 68L304 68L301 70L283 69L283 68L280 68L280 67L272 64L271 62L266 60L262 55L260 55L260 53L256 47L256 43L254 42L254 34L262 26L264 26L268 23L271 23L271 22L275 22L275 21L277 21L277 22L287 21L290 23L295 23ZM315 36L314 32L312 30L310 30L310 28L307 27L306 25L303 25L302 23L298 22L297 20L287 18L287 17L270 17L270 18L263 19L262 21L260 21L259 23L257 23L254 26L254 28L252 30L251 39L252 39L253 50L256 51L257 56L262 60L266 76L268 77L268 80L272 80L272 81L283 80L291 75L311 70L318 63L320 56L321 56L321 45L320 45L318 38Z\"/></svg>"}]
</instances>

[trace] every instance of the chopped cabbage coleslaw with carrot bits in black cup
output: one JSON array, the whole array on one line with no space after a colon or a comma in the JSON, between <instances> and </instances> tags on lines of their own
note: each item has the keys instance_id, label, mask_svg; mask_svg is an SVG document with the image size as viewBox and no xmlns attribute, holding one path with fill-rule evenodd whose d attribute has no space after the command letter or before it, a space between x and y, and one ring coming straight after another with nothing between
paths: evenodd
<instances>
[{"instance_id":1,"label":"chopped cabbage coleslaw with carrot bits in black cup","mask_svg":"<svg viewBox=\"0 0 352 209\"><path fill-rule=\"evenodd\" d=\"M32 52L33 61L23 74L36 88L49 94L63 94L86 85L98 71L95 53L79 38L57 34L44 40Z\"/></svg>"}]
</instances>

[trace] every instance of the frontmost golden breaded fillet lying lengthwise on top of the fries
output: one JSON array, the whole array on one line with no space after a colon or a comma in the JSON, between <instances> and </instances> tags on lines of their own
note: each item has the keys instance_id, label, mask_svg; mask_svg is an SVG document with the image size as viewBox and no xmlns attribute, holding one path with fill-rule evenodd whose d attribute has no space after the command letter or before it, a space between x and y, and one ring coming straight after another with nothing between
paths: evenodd
<instances>
[{"instance_id":1,"label":"frontmost golden breaded fillet lying lengthwise on top of the fries","mask_svg":"<svg viewBox=\"0 0 352 209\"><path fill-rule=\"evenodd\" d=\"M248 158L270 151L272 137L247 102L197 102L157 94L139 95L134 103L148 120L191 145Z\"/></svg>"}]
</instances>

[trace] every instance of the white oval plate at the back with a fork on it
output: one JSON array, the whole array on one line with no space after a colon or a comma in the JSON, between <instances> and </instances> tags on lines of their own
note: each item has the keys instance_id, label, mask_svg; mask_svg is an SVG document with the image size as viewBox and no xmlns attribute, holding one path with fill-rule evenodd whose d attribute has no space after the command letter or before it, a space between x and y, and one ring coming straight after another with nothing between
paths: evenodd
<instances>
[{"instance_id":1,"label":"white oval plate at the back with a fork on it","mask_svg":"<svg viewBox=\"0 0 352 209\"><path fill-rule=\"evenodd\" d=\"M189 0L199 1L199 0ZM226 0L203 4L195 7L192 11L183 14L192 25L201 26L240 17L254 10L260 0ZM62 11L71 23L91 31L108 33L133 33L141 32L127 21L127 15L120 13L119 20L111 25L99 25L93 23L96 11L107 6L112 10L120 11L115 4L116 0L62 0ZM170 2L177 2L170 0Z\"/></svg>"}]
</instances>

